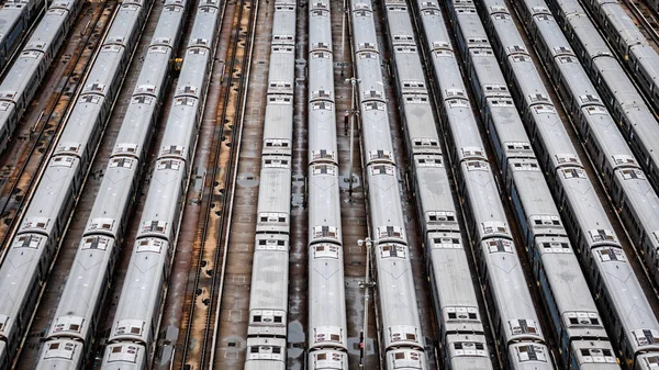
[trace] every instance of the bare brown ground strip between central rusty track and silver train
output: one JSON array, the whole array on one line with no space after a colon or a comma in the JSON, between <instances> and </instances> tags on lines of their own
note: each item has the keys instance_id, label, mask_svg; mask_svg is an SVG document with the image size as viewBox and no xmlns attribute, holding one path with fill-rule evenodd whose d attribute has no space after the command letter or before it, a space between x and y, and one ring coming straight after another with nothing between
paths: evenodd
<instances>
[{"instance_id":1,"label":"bare brown ground strip between central rusty track and silver train","mask_svg":"<svg viewBox=\"0 0 659 370\"><path fill-rule=\"evenodd\" d=\"M257 5L257 7L256 7ZM245 113L239 125L232 214L225 220L226 259L219 305L215 352L210 369L238 370L245 365L256 203L266 109L273 1L255 2L256 26ZM227 238L227 239L225 239Z\"/></svg>"}]
</instances>

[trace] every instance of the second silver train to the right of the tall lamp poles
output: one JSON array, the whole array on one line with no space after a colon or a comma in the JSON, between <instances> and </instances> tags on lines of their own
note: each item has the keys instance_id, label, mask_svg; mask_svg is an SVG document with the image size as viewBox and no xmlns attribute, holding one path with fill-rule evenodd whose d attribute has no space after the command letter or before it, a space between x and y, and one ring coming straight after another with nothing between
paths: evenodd
<instances>
[{"instance_id":1,"label":"second silver train to the right of the tall lamp poles","mask_svg":"<svg viewBox=\"0 0 659 370\"><path fill-rule=\"evenodd\" d=\"M424 2L424 7L428 3ZM417 216L426 250L435 316L445 369L492 369L474 281L445 168L438 117L405 1L387 0L383 10L399 108L411 162ZM424 8L423 21L428 8ZM435 8L434 10L439 10ZM431 21L432 22L432 21ZM429 25L429 23L428 23ZM436 25L433 25L436 26ZM412 368L412 367L410 367Z\"/></svg>"}]
</instances>

